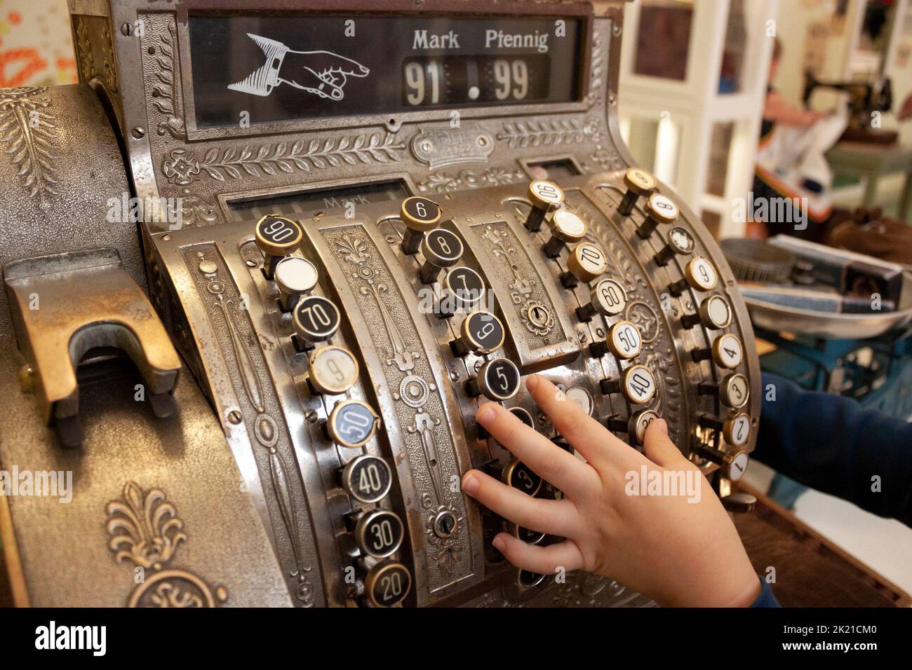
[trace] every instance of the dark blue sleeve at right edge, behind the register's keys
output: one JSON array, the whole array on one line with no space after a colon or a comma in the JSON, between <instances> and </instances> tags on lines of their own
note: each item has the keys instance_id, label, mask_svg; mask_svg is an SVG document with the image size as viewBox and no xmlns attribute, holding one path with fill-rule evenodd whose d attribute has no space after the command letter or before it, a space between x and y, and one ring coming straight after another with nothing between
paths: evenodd
<instances>
[{"instance_id":1,"label":"dark blue sleeve at right edge, behind the register's keys","mask_svg":"<svg viewBox=\"0 0 912 670\"><path fill-rule=\"evenodd\" d=\"M816 490L912 526L912 424L765 373L762 395L753 456Z\"/></svg>"}]
</instances>

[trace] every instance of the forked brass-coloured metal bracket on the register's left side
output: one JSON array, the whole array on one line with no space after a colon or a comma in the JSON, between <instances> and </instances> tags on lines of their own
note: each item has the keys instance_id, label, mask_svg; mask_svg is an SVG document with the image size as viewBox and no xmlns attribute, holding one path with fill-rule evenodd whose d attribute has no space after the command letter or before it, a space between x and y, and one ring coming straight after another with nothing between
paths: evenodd
<instances>
[{"instance_id":1,"label":"forked brass-coloured metal bracket on the register's left side","mask_svg":"<svg viewBox=\"0 0 912 670\"><path fill-rule=\"evenodd\" d=\"M181 359L149 299L120 263L116 249L39 256L4 268L16 342L42 416L66 447L78 447L76 369L88 351L113 347L139 369L152 411L171 416Z\"/></svg>"}]
</instances>

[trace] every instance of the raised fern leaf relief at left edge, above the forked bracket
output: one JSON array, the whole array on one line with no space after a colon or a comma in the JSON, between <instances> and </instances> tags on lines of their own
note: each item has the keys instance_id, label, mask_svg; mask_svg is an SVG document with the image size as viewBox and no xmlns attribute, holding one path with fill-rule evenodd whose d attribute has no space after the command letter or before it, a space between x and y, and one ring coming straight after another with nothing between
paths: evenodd
<instances>
[{"instance_id":1,"label":"raised fern leaf relief at left edge, above the forked bracket","mask_svg":"<svg viewBox=\"0 0 912 670\"><path fill-rule=\"evenodd\" d=\"M57 193L57 119L48 109L47 87L0 90L0 144L19 183L42 206Z\"/></svg>"}]
</instances>

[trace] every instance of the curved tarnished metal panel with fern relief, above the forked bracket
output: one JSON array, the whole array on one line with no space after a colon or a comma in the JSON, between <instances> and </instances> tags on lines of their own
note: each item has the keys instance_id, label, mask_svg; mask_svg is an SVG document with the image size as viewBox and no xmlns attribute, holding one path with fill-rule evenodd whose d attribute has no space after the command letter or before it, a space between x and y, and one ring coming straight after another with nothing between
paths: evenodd
<instances>
[{"instance_id":1,"label":"curved tarnished metal panel with fern relief, above the forked bracket","mask_svg":"<svg viewBox=\"0 0 912 670\"><path fill-rule=\"evenodd\" d=\"M17 149L0 160L0 267L114 247L145 289L137 224L109 221L109 200L121 203L130 193L117 139L92 89L0 88L0 127L0 146ZM0 314L0 337L12 335L5 291Z\"/></svg>"}]
</instances>

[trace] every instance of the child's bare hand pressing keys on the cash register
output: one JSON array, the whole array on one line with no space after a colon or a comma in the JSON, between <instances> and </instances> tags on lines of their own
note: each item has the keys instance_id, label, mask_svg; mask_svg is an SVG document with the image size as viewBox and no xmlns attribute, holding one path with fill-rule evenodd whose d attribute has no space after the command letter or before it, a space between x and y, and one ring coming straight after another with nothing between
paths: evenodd
<instances>
[{"instance_id":1,"label":"child's bare hand pressing keys on the cash register","mask_svg":"<svg viewBox=\"0 0 912 670\"><path fill-rule=\"evenodd\" d=\"M596 572L663 605L743 606L754 601L760 581L738 532L700 469L668 439L664 420L649 425L643 456L544 377L530 376L526 387L587 462L503 407L487 403L479 408L476 417L492 437L564 493L564 500L535 499L478 470L465 473L462 490L482 505L524 528L566 538L542 547L502 532L494 546L508 561L544 574L559 568ZM660 496L628 495L627 473L635 472L639 479L644 467L683 473L678 479L689 479L690 495L686 490L676 496L664 490Z\"/></svg>"}]
</instances>

